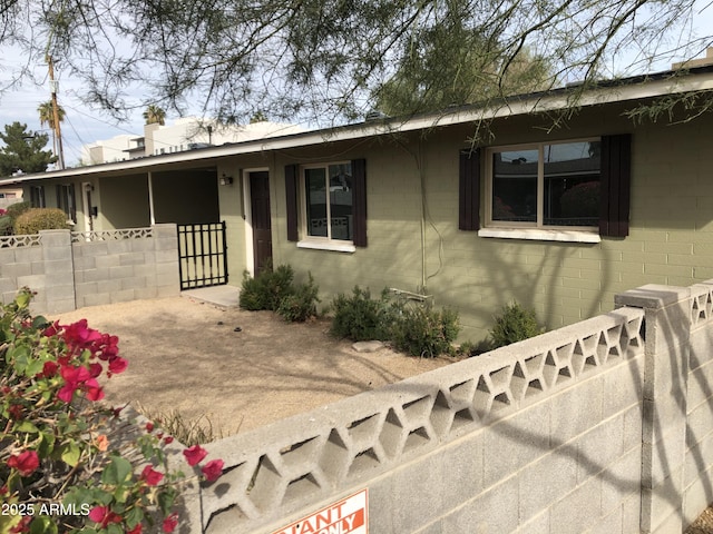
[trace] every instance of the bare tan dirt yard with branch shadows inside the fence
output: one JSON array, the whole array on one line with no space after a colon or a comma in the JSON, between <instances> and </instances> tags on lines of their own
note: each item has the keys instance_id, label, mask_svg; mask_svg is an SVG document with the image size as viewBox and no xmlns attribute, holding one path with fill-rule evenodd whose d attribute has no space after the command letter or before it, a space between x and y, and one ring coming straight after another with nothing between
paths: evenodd
<instances>
[{"instance_id":1,"label":"bare tan dirt yard with branch shadows inside the fence","mask_svg":"<svg viewBox=\"0 0 713 534\"><path fill-rule=\"evenodd\" d=\"M51 318L86 318L89 327L119 336L129 367L107 380L108 402L205 416L223 435L453 362L389 348L356 353L350 342L329 336L325 320L289 324L270 312L223 309L187 297L91 306Z\"/></svg>"}]
</instances>

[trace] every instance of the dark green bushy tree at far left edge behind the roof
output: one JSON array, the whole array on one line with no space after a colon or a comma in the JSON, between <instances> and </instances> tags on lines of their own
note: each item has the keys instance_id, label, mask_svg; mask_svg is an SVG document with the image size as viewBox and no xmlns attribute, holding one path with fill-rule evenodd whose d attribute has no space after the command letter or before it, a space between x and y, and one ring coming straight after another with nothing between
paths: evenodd
<instances>
[{"instance_id":1,"label":"dark green bushy tree at far left edge behind the roof","mask_svg":"<svg viewBox=\"0 0 713 534\"><path fill-rule=\"evenodd\" d=\"M22 171L43 172L57 157L50 150L42 150L49 141L46 134L27 130L27 125L12 122L0 134L4 147L0 148L0 176L12 176Z\"/></svg>"}]
</instances>

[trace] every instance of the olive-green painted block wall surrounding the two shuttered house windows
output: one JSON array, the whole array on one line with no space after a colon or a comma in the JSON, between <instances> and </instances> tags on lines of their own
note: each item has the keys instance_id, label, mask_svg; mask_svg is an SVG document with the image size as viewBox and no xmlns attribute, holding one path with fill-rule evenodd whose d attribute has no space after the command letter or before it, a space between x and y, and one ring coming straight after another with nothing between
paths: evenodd
<instances>
[{"instance_id":1,"label":"olive-green painted block wall surrounding the two shuttered house windows","mask_svg":"<svg viewBox=\"0 0 713 534\"><path fill-rule=\"evenodd\" d=\"M569 126L550 132L543 128L546 118L510 118L495 123L491 145L632 132L626 238L574 244L481 238L476 231L458 230L458 152L472 134L472 127L461 126L430 131L426 138L325 142L270 158L274 263L292 265L303 278L311 271L326 304L355 284L369 286L373 294L383 287L419 291L426 257L427 293L437 306L459 310L461 338L473 342L487 336L492 316L514 299L534 307L548 328L556 328L613 309L614 295L626 289L713 278L713 155L707 148L713 126L703 118L635 127L622 110L582 112ZM362 157L369 246L345 254L300 249L287 241L284 166ZM247 167L237 159L232 166ZM219 192L222 215L237 214L240 195ZM231 219L229 239L243 238L242 217ZM247 267L240 257L231 257L232 271ZM232 281L238 285L240 278Z\"/></svg>"}]
</instances>

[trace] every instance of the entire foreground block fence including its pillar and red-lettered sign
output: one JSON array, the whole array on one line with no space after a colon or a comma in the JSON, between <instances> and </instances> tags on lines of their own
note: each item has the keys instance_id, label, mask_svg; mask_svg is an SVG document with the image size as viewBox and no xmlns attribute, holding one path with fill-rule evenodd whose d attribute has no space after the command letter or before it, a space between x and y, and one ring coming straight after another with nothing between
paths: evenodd
<instances>
[{"instance_id":1,"label":"entire foreground block fence including its pillar and red-lettered sign","mask_svg":"<svg viewBox=\"0 0 713 534\"><path fill-rule=\"evenodd\" d=\"M193 496L187 532L680 534L713 502L712 289L644 286L609 314L208 444L225 472Z\"/></svg>"}]
</instances>

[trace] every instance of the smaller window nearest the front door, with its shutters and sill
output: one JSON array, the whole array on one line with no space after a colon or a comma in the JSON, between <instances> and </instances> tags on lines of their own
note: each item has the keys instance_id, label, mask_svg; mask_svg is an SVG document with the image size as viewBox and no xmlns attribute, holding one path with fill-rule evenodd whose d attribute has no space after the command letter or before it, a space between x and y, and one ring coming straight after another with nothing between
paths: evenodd
<instances>
[{"instance_id":1,"label":"smaller window nearest the front door, with its shutters and sill","mask_svg":"<svg viewBox=\"0 0 713 534\"><path fill-rule=\"evenodd\" d=\"M285 167L287 239L306 248L365 247L365 168L363 159Z\"/></svg>"}]
</instances>

